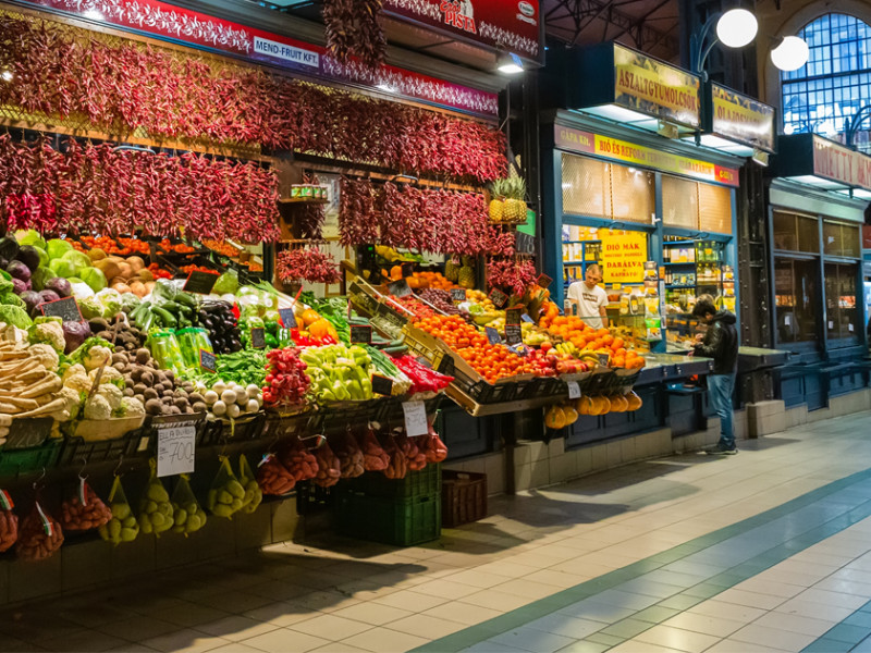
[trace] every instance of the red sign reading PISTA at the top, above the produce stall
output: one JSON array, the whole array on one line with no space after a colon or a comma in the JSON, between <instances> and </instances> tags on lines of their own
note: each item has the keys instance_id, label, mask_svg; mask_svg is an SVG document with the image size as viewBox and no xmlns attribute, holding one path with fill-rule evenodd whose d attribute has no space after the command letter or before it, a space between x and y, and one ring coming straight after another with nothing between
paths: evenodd
<instances>
[{"instance_id":1,"label":"red sign reading PISTA at the top, above the produce stall","mask_svg":"<svg viewBox=\"0 0 871 653\"><path fill-rule=\"evenodd\" d=\"M384 12L544 62L539 0L384 0Z\"/></svg>"}]
</instances>

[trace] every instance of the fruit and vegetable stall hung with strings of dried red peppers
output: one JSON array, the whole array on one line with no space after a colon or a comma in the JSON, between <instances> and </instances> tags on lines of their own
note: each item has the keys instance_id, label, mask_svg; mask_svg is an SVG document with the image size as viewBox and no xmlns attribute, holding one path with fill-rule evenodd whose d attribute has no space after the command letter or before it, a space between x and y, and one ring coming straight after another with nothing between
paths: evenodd
<instances>
[{"instance_id":1,"label":"fruit and vegetable stall hung with strings of dried red peppers","mask_svg":"<svg viewBox=\"0 0 871 653\"><path fill-rule=\"evenodd\" d=\"M504 81L373 72L157 1L36 4L0 8L0 603L76 587L61 546L109 559L102 582L291 539L328 504L352 537L438 538L453 417L566 401L554 360L507 348L547 297L522 303ZM449 385L471 398L453 417Z\"/></svg>"}]
</instances>

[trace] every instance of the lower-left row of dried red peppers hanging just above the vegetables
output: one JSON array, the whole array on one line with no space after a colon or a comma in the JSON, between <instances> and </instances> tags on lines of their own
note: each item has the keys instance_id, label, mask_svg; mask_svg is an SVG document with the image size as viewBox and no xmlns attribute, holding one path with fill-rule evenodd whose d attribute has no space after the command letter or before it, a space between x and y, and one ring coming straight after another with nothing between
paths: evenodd
<instances>
[{"instance_id":1,"label":"lower-left row of dried red peppers hanging just above the vegetables","mask_svg":"<svg viewBox=\"0 0 871 653\"><path fill-rule=\"evenodd\" d=\"M42 232L274 241L278 178L257 163L0 136L0 224ZM25 199L30 198L28 201ZM38 198L38 201L33 198Z\"/></svg>"}]
</instances>

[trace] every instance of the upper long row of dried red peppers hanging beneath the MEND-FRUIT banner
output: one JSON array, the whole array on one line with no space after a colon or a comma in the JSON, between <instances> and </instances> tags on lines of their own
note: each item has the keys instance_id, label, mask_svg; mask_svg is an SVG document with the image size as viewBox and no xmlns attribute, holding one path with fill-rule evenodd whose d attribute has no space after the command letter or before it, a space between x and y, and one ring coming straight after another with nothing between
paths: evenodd
<instances>
[{"instance_id":1,"label":"upper long row of dried red peppers hanging beneath the MEND-FRUIT banner","mask_svg":"<svg viewBox=\"0 0 871 653\"><path fill-rule=\"evenodd\" d=\"M507 172L504 135L471 120L53 21L4 13L0 34L0 66L15 79L0 84L0 106L29 115L84 119L112 134L259 144L478 182ZM367 34L370 42L377 36ZM128 173L142 174L135 165ZM38 183L13 201L33 220L51 220Z\"/></svg>"}]
</instances>

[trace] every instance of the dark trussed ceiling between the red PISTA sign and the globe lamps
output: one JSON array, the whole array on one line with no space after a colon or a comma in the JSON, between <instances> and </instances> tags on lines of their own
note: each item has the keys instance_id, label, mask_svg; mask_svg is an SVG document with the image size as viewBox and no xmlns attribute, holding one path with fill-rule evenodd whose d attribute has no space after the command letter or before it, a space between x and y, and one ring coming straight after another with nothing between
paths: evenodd
<instances>
[{"instance_id":1,"label":"dark trussed ceiling between the red PISTA sign and the globe lamps","mask_svg":"<svg viewBox=\"0 0 871 653\"><path fill-rule=\"evenodd\" d=\"M677 0L541 0L549 38L588 46L608 40L677 61Z\"/></svg>"}]
</instances>

